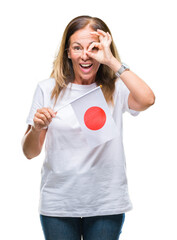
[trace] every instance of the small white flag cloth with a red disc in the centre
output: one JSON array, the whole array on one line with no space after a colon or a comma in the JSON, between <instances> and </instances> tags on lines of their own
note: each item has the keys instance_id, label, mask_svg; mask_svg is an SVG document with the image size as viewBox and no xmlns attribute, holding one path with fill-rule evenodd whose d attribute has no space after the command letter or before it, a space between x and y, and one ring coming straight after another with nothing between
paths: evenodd
<instances>
[{"instance_id":1,"label":"small white flag cloth with a red disc in the centre","mask_svg":"<svg viewBox=\"0 0 177 240\"><path fill-rule=\"evenodd\" d=\"M91 147L116 137L118 129L100 87L92 89L70 104Z\"/></svg>"}]
</instances>

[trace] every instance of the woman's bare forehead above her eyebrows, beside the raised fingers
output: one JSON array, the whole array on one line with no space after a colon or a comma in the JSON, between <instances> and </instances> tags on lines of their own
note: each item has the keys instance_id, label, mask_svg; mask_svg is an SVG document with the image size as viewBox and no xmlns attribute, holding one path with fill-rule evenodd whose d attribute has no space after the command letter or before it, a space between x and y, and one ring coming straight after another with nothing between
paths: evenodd
<instances>
[{"instance_id":1,"label":"woman's bare forehead above her eyebrows, beside the raised fingers","mask_svg":"<svg viewBox=\"0 0 177 240\"><path fill-rule=\"evenodd\" d=\"M94 30L86 26L83 29L80 29L76 31L73 35L70 37L70 43L78 42L78 43L90 43L90 42L98 42L99 38L98 36L90 34L90 32L94 32Z\"/></svg>"}]
</instances>

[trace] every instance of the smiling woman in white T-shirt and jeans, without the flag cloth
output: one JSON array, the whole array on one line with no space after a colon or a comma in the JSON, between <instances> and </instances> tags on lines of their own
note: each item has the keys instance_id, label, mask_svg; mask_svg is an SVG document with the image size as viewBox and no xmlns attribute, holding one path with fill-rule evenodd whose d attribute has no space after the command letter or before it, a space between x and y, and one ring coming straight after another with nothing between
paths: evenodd
<instances>
[{"instance_id":1,"label":"smiling woman in white T-shirt and jeans, without the flag cloth","mask_svg":"<svg viewBox=\"0 0 177 240\"><path fill-rule=\"evenodd\" d=\"M100 84L119 134L90 148L69 102ZM121 63L101 19L79 16L68 24L51 78L36 88L22 141L32 159L46 139L39 207L45 239L119 238L132 208L122 113L135 116L154 101L147 84Z\"/></svg>"}]
</instances>

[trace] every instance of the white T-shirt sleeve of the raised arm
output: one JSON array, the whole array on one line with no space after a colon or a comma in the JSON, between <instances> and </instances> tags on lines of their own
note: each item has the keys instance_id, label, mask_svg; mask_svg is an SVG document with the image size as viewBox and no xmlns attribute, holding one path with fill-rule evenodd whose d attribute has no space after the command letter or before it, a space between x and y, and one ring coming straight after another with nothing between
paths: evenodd
<instances>
[{"instance_id":1,"label":"white T-shirt sleeve of the raised arm","mask_svg":"<svg viewBox=\"0 0 177 240\"><path fill-rule=\"evenodd\" d=\"M122 81L122 80L121 80ZM121 84L121 97L122 97L122 112L128 112L133 116L137 116L140 112L135 111L129 108L128 106L128 97L130 94L130 90L127 88L127 86L122 82Z\"/></svg>"}]
</instances>

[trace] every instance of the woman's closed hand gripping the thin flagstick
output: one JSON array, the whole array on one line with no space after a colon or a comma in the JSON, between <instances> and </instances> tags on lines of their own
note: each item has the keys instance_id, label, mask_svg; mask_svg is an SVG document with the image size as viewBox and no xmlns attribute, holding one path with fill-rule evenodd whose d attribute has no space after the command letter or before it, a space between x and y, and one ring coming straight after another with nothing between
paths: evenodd
<instances>
[{"instance_id":1,"label":"woman's closed hand gripping the thin flagstick","mask_svg":"<svg viewBox=\"0 0 177 240\"><path fill-rule=\"evenodd\" d=\"M54 112L51 108L38 109L33 118L33 128L39 132L46 129L56 114L57 112Z\"/></svg>"}]
</instances>

